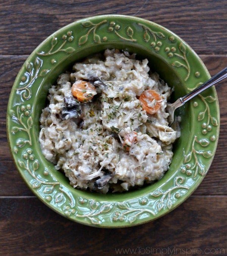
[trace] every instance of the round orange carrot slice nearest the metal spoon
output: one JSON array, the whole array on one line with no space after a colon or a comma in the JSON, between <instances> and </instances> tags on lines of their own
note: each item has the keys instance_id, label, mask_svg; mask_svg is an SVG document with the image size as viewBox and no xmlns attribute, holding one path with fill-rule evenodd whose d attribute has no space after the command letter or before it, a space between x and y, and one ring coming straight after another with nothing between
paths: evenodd
<instances>
[{"instance_id":1,"label":"round orange carrot slice nearest the metal spoon","mask_svg":"<svg viewBox=\"0 0 227 256\"><path fill-rule=\"evenodd\" d=\"M154 90L145 90L139 97L142 108L149 114L156 113L161 107L162 99Z\"/></svg>"}]
</instances>

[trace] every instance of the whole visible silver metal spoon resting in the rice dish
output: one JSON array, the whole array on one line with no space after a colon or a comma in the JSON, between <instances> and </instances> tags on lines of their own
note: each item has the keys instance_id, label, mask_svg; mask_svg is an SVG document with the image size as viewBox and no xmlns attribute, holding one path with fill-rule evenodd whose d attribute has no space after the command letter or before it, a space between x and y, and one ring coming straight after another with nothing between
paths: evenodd
<instances>
[{"instance_id":1,"label":"whole visible silver metal spoon resting in the rice dish","mask_svg":"<svg viewBox=\"0 0 227 256\"><path fill-rule=\"evenodd\" d=\"M183 106L186 102L190 101L190 99L197 96L199 93L202 93L202 91L206 90L207 88L210 88L210 86L215 85L216 83L220 82L221 80L227 78L227 67L224 68L222 71L218 72L218 74L211 77L207 82L203 83L187 95L180 97L177 99L174 103L167 103L166 111L169 113L168 121L169 124L172 124L174 121L174 111Z\"/></svg>"}]
</instances>

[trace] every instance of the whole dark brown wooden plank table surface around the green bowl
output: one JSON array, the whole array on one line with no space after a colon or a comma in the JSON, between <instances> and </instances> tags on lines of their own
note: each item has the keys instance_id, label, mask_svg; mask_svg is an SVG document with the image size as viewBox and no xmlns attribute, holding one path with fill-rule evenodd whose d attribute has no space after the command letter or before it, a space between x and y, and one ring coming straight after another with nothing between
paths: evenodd
<instances>
[{"instance_id":1,"label":"whole dark brown wooden plank table surface around the green bowl","mask_svg":"<svg viewBox=\"0 0 227 256\"><path fill-rule=\"evenodd\" d=\"M48 35L99 14L152 20L183 38L211 75L227 66L225 0L0 0L0 255L115 255L121 248L137 255L227 254L226 81L216 86L221 129L210 170L165 217L123 229L83 226L41 203L18 174L6 138L6 107L17 72Z\"/></svg>"}]
</instances>

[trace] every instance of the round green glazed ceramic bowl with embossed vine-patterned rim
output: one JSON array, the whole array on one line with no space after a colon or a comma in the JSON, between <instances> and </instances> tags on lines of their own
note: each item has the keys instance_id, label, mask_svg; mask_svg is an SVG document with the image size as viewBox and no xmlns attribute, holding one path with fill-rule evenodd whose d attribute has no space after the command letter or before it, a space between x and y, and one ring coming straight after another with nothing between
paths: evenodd
<instances>
[{"instance_id":1,"label":"round green glazed ceramic bowl with embossed vine-patterned rim","mask_svg":"<svg viewBox=\"0 0 227 256\"><path fill-rule=\"evenodd\" d=\"M169 170L154 184L106 195L71 187L42 155L39 116L58 75L76 61L107 48L148 58L151 70L174 86L172 101L210 78L190 46L158 24L121 15L78 20L45 39L23 64L9 97L7 131L17 169L43 203L78 223L119 228L167 214L198 187L215 155L219 105L215 88L210 88L179 109L181 137L174 144Z\"/></svg>"}]
</instances>

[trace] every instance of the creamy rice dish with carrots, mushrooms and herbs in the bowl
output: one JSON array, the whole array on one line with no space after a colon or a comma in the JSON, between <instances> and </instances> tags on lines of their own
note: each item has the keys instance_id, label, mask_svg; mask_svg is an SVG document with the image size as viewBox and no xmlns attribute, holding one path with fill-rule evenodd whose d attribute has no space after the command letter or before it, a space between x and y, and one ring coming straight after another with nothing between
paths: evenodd
<instances>
[{"instance_id":1,"label":"creamy rice dish with carrots, mushrooms and herbs in the bowl","mask_svg":"<svg viewBox=\"0 0 227 256\"><path fill-rule=\"evenodd\" d=\"M171 92L135 54L105 50L75 63L49 90L42 152L74 188L122 192L159 180L179 137L165 111Z\"/></svg>"}]
</instances>

